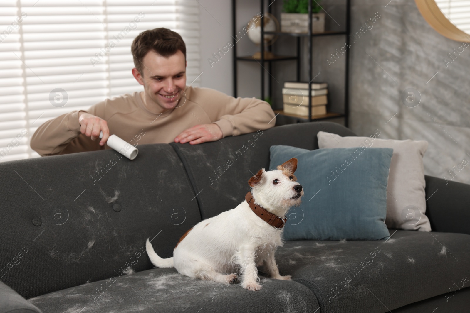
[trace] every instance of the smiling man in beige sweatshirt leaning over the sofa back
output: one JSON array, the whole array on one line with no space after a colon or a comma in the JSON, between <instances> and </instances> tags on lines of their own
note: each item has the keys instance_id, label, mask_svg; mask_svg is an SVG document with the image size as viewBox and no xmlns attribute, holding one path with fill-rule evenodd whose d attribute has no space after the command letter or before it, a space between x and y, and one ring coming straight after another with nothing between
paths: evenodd
<instances>
[{"instance_id":1,"label":"smiling man in beige sweatshirt leaning over the sofa back","mask_svg":"<svg viewBox=\"0 0 470 313\"><path fill-rule=\"evenodd\" d=\"M134 146L173 141L196 145L274 126L274 112L265 101L186 86L186 46L178 33L144 31L131 51L132 74L143 92L47 121L32 136L31 148L41 156L109 149L110 134Z\"/></svg>"}]
</instances>

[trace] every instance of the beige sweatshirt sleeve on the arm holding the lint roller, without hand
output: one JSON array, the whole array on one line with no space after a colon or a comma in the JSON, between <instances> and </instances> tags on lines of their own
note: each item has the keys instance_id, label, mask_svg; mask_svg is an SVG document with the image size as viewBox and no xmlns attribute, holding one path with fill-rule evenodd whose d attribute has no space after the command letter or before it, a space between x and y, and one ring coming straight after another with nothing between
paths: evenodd
<instances>
[{"instance_id":1,"label":"beige sweatshirt sleeve on the arm holding the lint roller, without hand","mask_svg":"<svg viewBox=\"0 0 470 313\"><path fill-rule=\"evenodd\" d=\"M80 111L99 116L97 111L101 110L97 110L97 107L102 106L103 102L95 104L88 110ZM100 146L99 140L91 140L90 137L86 137L80 132L80 123L78 122L78 112L80 111L57 116L39 126L31 137L31 149L41 156L104 149L104 146Z\"/></svg>"}]
</instances>

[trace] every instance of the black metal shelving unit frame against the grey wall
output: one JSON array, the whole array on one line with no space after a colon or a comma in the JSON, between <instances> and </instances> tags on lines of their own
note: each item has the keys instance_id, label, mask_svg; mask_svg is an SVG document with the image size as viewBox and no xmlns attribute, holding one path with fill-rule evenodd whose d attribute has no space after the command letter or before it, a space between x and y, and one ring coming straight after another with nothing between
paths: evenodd
<instances>
[{"instance_id":1,"label":"black metal shelving unit frame against the grey wall","mask_svg":"<svg viewBox=\"0 0 470 313\"><path fill-rule=\"evenodd\" d=\"M260 12L265 12L265 3L264 0L260 0ZM268 6L268 13L271 13L272 7ZM318 36L345 36L345 38L349 38L350 35L350 23L351 23L351 0L346 0L346 31L325 31L321 33L312 33L312 0L309 0L308 3L308 33L305 34L298 34L298 33L286 33L280 31L264 31L264 14L261 17L261 59L257 60L251 56L238 56L237 55L237 44L236 40L234 42L234 59L233 59L233 72L234 72L234 96L237 97L238 88L237 88L237 63L238 61L254 61L258 62L261 70L261 99L265 99L265 73L266 70L265 65L267 64L269 73L272 72L272 65L273 62L276 61L286 61L286 60L296 60L297 61L297 81L300 81L300 38L306 37L308 38L307 46L308 46L308 77L309 77L309 84L308 84L308 94L310 95L312 90L312 81L313 81L313 66L312 66L312 46L313 46L313 37ZM237 35L236 29L236 0L232 0L232 20L233 20L233 34L234 38ZM297 53L295 56L276 56L274 59L266 59L264 57L264 35L265 34L274 34L277 36L291 36L297 39ZM346 39L348 41L348 39ZM272 50L272 46L268 47L269 51ZM272 97L272 90L271 90L271 83L272 78L269 76L269 95L271 99ZM348 116L349 116L349 49L346 49L345 52L345 103L344 103L344 113L333 113L329 112L326 115L322 115L320 117L314 117L311 114L308 117L298 116L298 115L290 115L283 113L282 110L274 111L276 114L282 114L284 116L288 116L292 119L293 122L312 122L313 120L324 120L336 117L344 117L345 118L345 126L348 126ZM312 97L308 97L308 112L311 112L312 109Z\"/></svg>"}]
</instances>

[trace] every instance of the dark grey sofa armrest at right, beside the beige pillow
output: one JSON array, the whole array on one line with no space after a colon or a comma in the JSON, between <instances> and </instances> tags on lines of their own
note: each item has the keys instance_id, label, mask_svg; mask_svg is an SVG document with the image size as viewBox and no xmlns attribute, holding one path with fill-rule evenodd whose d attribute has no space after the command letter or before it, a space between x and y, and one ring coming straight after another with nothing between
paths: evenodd
<instances>
[{"instance_id":1,"label":"dark grey sofa armrest at right, beside the beige pillow","mask_svg":"<svg viewBox=\"0 0 470 313\"><path fill-rule=\"evenodd\" d=\"M470 185L424 176L426 216L433 231L470 234Z\"/></svg>"}]
</instances>

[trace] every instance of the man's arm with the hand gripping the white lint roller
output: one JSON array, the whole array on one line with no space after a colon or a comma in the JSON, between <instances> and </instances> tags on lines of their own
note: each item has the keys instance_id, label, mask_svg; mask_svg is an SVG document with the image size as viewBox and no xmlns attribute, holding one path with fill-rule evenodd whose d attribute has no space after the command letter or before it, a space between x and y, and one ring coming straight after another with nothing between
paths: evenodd
<instances>
[{"instance_id":1,"label":"man's arm with the hand gripping the white lint roller","mask_svg":"<svg viewBox=\"0 0 470 313\"><path fill-rule=\"evenodd\" d=\"M72 111L45 122L31 137L31 149L41 156L104 149L104 142L109 134L106 125L107 131L103 129L106 137L103 136L101 140L103 144L100 145L100 140L94 140L100 133L99 125L106 124L104 120L94 116L100 115L97 111L100 111L99 108L104 105L103 102L90 107L87 111ZM81 121L79 121L79 115Z\"/></svg>"}]
</instances>

